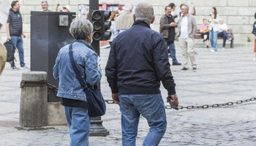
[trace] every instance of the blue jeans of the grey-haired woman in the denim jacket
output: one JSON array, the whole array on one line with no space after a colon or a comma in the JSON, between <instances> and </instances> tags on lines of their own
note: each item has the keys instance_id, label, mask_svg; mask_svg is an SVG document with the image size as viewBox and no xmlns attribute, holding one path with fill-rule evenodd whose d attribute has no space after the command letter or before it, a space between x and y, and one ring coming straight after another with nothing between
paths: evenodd
<instances>
[{"instance_id":1,"label":"blue jeans of the grey-haired woman in the denim jacket","mask_svg":"<svg viewBox=\"0 0 256 146\"><path fill-rule=\"evenodd\" d=\"M70 146L89 145L90 117L87 107L64 106L69 124Z\"/></svg>"}]
</instances>

